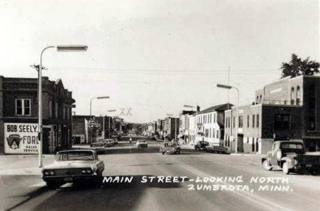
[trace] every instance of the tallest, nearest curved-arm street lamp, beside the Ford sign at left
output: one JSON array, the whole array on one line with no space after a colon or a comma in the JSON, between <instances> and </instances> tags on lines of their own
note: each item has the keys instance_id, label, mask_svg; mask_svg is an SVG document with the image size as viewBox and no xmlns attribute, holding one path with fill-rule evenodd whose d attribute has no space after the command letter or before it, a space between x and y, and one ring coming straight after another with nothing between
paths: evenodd
<instances>
[{"instance_id":1,"label":"tallest, nearest curved-arm street lamp, beside the Ford sign at left","mask_svg":"<svg viewBox=\"0 0 320 211\"><path fill-rule=\"evenodd\" d=\"M38 69L38 140L39 140L39 167L42 167L42 55L48 48L56 48L57 51L87 51L85 45L58 45L47 46L40 53L40 65Z\"/></svg>"}]
</instances>

